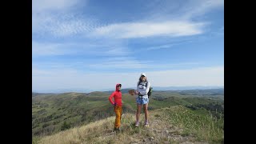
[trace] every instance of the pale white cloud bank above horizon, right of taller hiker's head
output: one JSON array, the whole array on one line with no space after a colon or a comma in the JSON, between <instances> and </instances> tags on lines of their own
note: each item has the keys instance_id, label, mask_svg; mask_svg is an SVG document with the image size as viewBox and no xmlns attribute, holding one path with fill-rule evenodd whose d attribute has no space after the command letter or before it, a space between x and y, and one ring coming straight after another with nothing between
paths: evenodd
<instances>
[{"instance_id":1,"label":"pale white cloud bank above horizon, right of taller hiker's head","mask_svg":"<svg viewBox=\"0 0 256 144\"><path fill-rule=\"evenodd\" d=\"M147 73L155 86L224 86L224 67L162 70Z\"/></svg>"}]
</instances>

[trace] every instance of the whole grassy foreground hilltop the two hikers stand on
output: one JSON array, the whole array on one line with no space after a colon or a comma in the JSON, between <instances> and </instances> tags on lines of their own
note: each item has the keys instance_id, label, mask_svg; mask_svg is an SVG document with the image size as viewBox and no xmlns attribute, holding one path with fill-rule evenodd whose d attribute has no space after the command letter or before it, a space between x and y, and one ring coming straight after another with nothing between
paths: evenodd
<instances>
[{"instance_id":1,"label":"whole grassy foreground hilltop the two hikers stand on","mask_svg":"<svg viewBox=\"0 0 256 144\"><path fill-rule=\"evenodd\" d=\"M110 117L34 139L34 143L222 143L224 140L223 118L184 106L151 110L150 127L142 126L143 115L140 121L141 125L134 127L134 114L124 114L119 133L113 131L114 117Z\"/></svg>"}]
</instances>

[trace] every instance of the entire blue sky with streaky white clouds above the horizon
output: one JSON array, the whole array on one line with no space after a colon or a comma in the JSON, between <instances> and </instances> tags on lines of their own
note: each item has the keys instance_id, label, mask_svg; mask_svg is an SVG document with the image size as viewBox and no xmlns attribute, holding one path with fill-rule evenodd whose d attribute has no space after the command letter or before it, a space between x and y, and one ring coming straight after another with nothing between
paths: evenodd
<instances>
[{"instance_id":1,"label":"entire blue sky with streaky white clouds above the horizon","mask_svg":"<svg viewBox=\"0 0 256 144\"><path fill-rule=\"evenodd\" d=\"M32 90L224 86L223 0L34 0Z\"/></svg>"}]
</instances>

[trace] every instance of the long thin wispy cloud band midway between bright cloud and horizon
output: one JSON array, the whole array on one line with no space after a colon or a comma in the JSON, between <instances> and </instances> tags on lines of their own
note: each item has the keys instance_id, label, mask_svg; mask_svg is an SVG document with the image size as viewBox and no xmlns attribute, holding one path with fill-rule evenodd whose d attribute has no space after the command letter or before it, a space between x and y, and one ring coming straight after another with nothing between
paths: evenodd
<instances>
[{"instance_id":1,"label":"long thin wispy cloud band midway between bright cloud and horizon","mask_svg":"<svg viewBox=\"0 0 256 144\"><path fill-rule=\"evenodd\" d=\"M47 70L66 70L72 68L74 70L90 70L90 71L126 71L126 70L166 70L166 69L184 69L193 66L202 66L202 62L179 62L179 63L155 63L154 61L145 61L141 58L133 58L129 56L108 56L100 59L78 58L76 60L62 61L35 61L33 67Z\"/></svg>"}]
</instances>

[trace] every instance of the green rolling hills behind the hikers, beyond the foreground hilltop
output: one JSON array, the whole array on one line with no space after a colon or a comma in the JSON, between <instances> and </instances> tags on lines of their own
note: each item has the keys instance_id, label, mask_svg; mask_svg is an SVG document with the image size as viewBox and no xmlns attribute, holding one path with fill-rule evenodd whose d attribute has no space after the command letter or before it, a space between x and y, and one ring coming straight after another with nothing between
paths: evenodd
<instances>
[{"instance_id":1,"label":"green rolling hills behind the hikers, beyond the foreground hilltop","mask_svg":"<svg viewBox=\"0 0 256 144\"><path fill-rule=\"evenodd\" d=\"M114 116L113 106L108 101L109 95L106 92L35 95L32 97L33 138L42 138ZM214 117L220 118L224 114L223 97L224 95L222 98L215 95L199 97L191 93L180 94L177 91L154 91L150 98L149 110L180 105L202 114L208 114L209 110ZM135 98L136 96L122 94L124 113L135 113Z\"/></svg>"}]
</instances>

